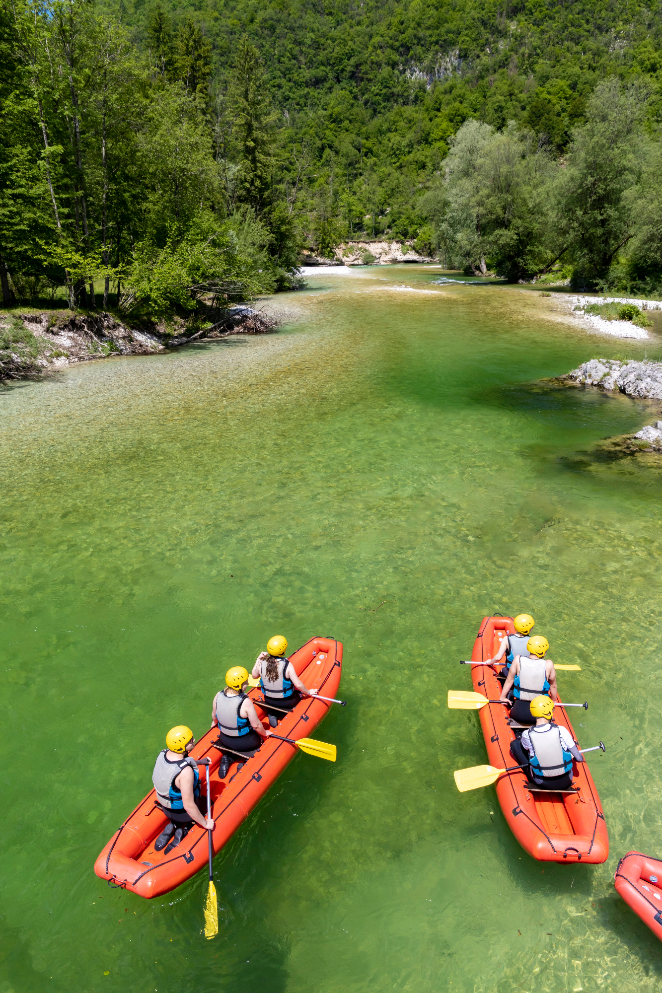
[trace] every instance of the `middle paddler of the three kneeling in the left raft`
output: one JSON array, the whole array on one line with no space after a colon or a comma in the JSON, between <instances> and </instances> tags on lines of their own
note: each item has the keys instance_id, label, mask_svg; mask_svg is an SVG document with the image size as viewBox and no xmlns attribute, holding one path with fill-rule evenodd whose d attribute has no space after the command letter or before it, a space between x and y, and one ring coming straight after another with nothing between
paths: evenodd
<instances>
[{"instance_id":1,"label":"middle paddler of the three kneeling in the left raft","mask_svg":"<svg viewBox=\"0 0 662 993\"><path fill-rule=\"evenodd\" d=\"M226 672L226 688L216 694L212 706L212 727L219 729L219 744L231 752L246 752L247 759L268 738L257 717L252 700L247 696L248 670L243 665L234 665ZM236 756L224 755L219 767L223 780Z\"/></svg>"}]
</instances>

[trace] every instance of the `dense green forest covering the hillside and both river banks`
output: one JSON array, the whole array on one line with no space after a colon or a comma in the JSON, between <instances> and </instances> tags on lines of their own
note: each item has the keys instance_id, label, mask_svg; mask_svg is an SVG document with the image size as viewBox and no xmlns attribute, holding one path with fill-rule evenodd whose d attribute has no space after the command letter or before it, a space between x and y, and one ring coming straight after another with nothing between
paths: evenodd
<instances>
[{"instance_id":1,"label":"dense green forest covering the hillside and both river banks","mask_svg":"<svg viewBox=\"0 0 662 993\"><path fill-rule=\"evenodd\" d=\"M374 238L658 292L661 29L629 0L0 0L3 304L195 319Z\"/></svg>"}]
</instances>

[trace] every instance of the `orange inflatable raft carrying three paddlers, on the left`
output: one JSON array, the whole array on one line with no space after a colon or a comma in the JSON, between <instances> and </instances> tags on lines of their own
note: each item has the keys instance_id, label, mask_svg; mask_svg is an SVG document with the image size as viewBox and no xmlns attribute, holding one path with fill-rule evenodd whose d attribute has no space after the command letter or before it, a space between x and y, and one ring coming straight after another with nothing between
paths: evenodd
<instances>
[{"instance_id":1,"label":"orange inflatable raft carrying three paddlers, on the left","mask_svg":"<svg viewBox=\"0 0 662 993\"><path fill-rule=\"evenodd\" d=\"M342 659L342 642L334 638L311 638L290 656L290 662L305 685L329 697L334 697L338 691ZM268 728L268 719L256 703L261 696L259 688L251 689L248 695L255 703L257 716L264 727ZM293 739L310 738L332 706L333 704L315 697L303 697L278 722L277 734ZM237 766L233 764L226 780L220 780L218 769L222 753L212 745L218 736L216 727L210 729L190 752L192 759L212 760L210 787L212 816L216 821L213 831L215 855L232 838L258 800L298 751L294 745L268 738L239 773ZM206 789L204 780L203 770L203 791ZM156 791L152 789L113 834L96 859L96 875L100 879L107 879L112 886L122 887L150 899L169 893L208 866L208 832L197 824L193 825L181 844L168 855L164 854L165 849L154 851L154 842L167 822L165 813L156 805Z\"/></svg>"}]
</instances>

